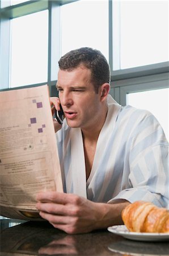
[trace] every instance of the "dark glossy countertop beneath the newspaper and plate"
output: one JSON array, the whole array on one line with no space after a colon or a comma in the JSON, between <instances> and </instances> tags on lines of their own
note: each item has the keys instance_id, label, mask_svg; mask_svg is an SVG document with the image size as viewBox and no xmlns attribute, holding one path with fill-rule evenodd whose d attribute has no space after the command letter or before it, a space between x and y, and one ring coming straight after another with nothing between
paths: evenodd
<instances>
[{"instance_id":1,"label":"dark glossy countertop beneath the newspaper and plate","mask_svg":"<svg viewBox=\"0 0 169 256\"><path fill-rule=\"evenodd\" d=\"M48 222L1 220L1 256L169 255L169 242L132 241L108 230L69 235Z\"/></svg>"}]
</instances>

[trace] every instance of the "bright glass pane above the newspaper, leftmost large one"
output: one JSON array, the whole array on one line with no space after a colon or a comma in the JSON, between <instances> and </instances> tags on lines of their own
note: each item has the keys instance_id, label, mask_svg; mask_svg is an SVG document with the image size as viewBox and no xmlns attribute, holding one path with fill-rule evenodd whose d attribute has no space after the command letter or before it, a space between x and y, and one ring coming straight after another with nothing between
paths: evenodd
<instances>
[{"instance_id":1,"label":"bright glass pane above the newspaper, leftmost large one","mask_svg":"<svg viewBox=\"0 0 169 256\"><path fill-rule=\"evenodd\" d=\"M48 10L11 20L11 87L48 79Z\"/></svg>"}]
</instances>

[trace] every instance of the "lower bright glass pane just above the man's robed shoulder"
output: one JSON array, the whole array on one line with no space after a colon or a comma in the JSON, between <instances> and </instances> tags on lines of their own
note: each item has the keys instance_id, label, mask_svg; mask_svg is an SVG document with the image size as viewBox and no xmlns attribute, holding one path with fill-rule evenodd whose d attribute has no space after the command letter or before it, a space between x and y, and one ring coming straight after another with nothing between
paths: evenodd
<instances>
[{"instance_id":1,"label":"lower bright glass pane just above the man's robed shoulder","mask_svg":"<svg viewBox=\"0 0 169 256\"><path fill-rule=\"evenodd\" d=\"M147 109L155 115L168 139L168 88L129 93L126 101L138 109Z\"/></svg>"}]
</instances>

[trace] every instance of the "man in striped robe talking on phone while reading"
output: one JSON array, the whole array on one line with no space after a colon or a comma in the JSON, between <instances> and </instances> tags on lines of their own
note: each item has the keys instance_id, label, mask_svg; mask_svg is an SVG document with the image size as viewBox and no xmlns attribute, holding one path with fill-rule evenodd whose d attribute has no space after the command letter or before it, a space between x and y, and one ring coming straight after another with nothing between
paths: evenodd
<instances>
[{"instance_id":1,"label":"man in striped robe talking on phone while reading","mask_svg":"<svg viewBox=\"0 0 169 256\"><path fill-rule=\"evenodd\" d=\"M99 51L70 51L59 67L59 98L50 100L65 115L62 126L54 120L65 193L39 193L41 217L86 233L122 224L122 209L136 200L168 207L168 143L158 121L108 95L109 65Z\"/></svg>"}]
</instances>

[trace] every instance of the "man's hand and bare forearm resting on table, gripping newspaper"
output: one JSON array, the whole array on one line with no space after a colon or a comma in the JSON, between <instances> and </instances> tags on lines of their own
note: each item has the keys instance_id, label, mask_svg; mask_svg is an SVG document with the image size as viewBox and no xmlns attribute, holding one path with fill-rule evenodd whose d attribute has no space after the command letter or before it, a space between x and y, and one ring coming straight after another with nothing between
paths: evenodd
<instances>
[{"instance_id":1,"label":"man's hand and bare forearm resting on table, gripping newspaper","mask_svg":"<svg viewBox=\"0 0 169 256\"><path fill-rule=\"evenodd\" d=\"M94 203L74 194L42 192L37 195L36 208L54 228L77 234L122 224L121 211L128 204L126 200Z\"/></svg>"}]
</instances>

